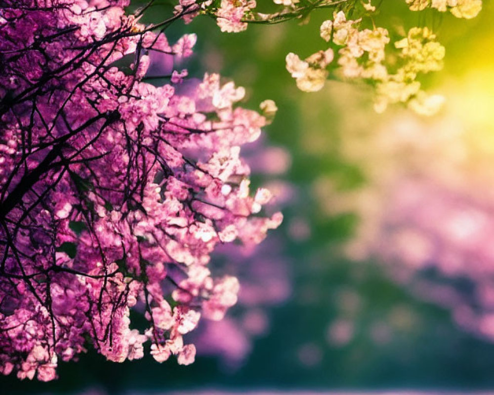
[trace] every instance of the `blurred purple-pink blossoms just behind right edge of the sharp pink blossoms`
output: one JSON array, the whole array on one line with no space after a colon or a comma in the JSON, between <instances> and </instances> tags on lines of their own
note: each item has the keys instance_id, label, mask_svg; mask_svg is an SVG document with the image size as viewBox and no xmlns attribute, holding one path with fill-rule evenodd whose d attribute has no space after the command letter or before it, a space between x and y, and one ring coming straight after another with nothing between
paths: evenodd
<instances>
[{"instance_id":1,"label":"blurred purple-pink blossoms just behind right edge of the sharp pink blossoms","mask_svg":"<svg viewBox=\"0 0 494 395\"><path fill-rule=\"evenodd\" d=\"M263 114L275 111L274 102L262 104ZM269 147L262 139L244 147L243 156L252 175L262 177L263 186L273 193L264 207L276 212L288 207L296 198L295 188L284 181L290 156L281 147ZM287 301L291 293L292 258L279 232L268 235L257 245L219 246L211 256L211 267L236 276L241 289L238 303L221 321L203 320L193 337L199 355L219 356L226 369L239 368L253 349L256 338L266 335L271 325L271 311Z\"/></svg>"}]
</instances>

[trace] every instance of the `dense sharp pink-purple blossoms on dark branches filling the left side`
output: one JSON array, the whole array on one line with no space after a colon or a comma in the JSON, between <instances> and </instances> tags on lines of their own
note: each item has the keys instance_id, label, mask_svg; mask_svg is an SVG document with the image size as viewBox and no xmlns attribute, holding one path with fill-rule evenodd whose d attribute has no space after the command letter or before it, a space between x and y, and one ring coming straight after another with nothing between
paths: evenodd
<instances>
[{"instance_id":1,"label":"dense sharp pink-purple blossoms on dark branches filling the left side","mask_svg":"<svg viewBox=\"0 0 494 395\"><path fill-rule=\"evenodd\" d=\"M191 363L183 336L222 319L239 291L211 273L211 252L258 243L282 220L263 212L268 190L250 193L240 155L267 119L236 105L243 88L173 67L196 37L163 32L196 8L182 1L145 26L126 5L1 4L3 374L52 380L88 347L121 362L150 344L157 361Z\"/></svg>"}]
</instances>

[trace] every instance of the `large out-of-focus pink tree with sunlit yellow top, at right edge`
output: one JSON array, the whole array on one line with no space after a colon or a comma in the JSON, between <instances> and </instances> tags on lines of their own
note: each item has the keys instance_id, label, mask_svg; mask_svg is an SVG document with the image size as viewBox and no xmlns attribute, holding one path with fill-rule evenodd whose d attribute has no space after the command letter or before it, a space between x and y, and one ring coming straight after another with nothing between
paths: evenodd
<instances>
[{"instance_id":1,"label":"large out-of-focus pink tree with sunlit yellow top, at right edge","mask_svg":"<svg viewBox=\"0 0 494 395\"><path fill-rule=\"evenodd\" d=\"M366 181L344 189L321 178L314 192L328 214L358 215L347 257L384 264L398 284L493 341L493 125L483 109L470 108L480 99L491 105L488 73L450 81L441 116L402 113L378 127L350 126L342 156Z\"/></svg>"}]
</instances>

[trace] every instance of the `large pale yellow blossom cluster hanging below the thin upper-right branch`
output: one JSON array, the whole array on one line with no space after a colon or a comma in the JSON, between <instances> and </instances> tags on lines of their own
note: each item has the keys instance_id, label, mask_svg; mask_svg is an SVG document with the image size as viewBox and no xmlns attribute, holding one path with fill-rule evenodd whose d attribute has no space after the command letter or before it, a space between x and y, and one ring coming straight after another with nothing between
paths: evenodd
<instances>
[{"instance_id":1,"label":"large pale yellow blossom cluster hanging below the thin upper-right branch","mask_svg":"<svg viewBox=\"0 0 494 395\"><path fill-rule=\"evenodd\" d=\"M337 78L371 84L378 112L388 104L406 103L420 114L435 113L442 97L428 96L417 77L442 68L445 49L436 36L427 27L415 27L405 38L394 40L390 48L387 29L362 29L362 25L362 18L347 20L343 10L334 12L333 19L323 22L320 29L331 47L305 60L293 53L287 55L287 70L299 89L318 91L333 72Z\"/></svg>"}]
</instances>

